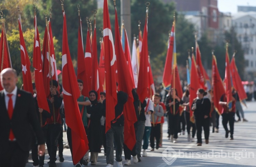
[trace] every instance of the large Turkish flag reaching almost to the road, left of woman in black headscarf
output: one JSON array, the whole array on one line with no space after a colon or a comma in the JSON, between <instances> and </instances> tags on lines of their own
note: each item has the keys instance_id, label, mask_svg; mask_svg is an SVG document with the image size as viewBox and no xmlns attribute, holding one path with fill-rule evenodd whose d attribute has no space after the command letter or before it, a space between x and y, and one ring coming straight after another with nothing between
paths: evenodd
<instances>
[{"instance_id":1,"label":"large Turkish flag reaching almost to the road, left of woman in black headscarf","mask_svg":"<svg viewBox=\"0 0 256 167\"><path fill-rule=\"evenodd\" d=\"M72 64L69 46L65 11L63 12L62 35L62 85L63 101L65 103L66 123L72 130L73 163L77 164L88 151L88 140L84 130L81 114L77 104L80 91L77 85L74 67Z\"/></svg>"}]
</instances>

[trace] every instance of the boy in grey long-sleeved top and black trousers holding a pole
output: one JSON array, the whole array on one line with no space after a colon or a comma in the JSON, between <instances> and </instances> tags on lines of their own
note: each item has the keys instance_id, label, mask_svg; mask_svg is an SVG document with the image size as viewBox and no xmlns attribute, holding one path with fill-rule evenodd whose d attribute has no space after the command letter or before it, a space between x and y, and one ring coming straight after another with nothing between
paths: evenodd
<instances>
[{"instance_id":1,"label":"boy in grey long-sleeved top and black trousers holding a pole","mask_svg":"<svg viewBox=\"0 0 256 167\"><path fill-rule=\"evenodd\" d=\"M150 146L151 151L155 149L155 138L156 138L156 149L159 148L159 140L161 133L161 117L163 116L163 107L159 105L160 94L156 93L153 96L154 101L154 112L151 114L151 134L150 134ZM153 117L154 115L154 117Z\"/></svg>"}]
</instances>

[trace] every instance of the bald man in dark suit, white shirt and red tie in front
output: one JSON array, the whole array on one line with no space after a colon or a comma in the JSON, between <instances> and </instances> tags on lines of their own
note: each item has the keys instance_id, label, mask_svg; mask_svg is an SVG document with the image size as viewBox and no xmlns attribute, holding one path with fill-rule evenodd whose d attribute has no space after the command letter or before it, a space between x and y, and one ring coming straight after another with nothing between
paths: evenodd
<instances>
[{"instance_id":1,"label":"bald man in dark suit, white shirt and red tie in front","mask_svg":"<svg viewBox=\"0 0 256 167\"><path fill-rule=\"evenodd\" d=\"M33 134L39 155L45 151L44 136L30 93L18 90L17 73L7 68L0 73L0 166L25 167Z\"/></svg>"}]
</instances>

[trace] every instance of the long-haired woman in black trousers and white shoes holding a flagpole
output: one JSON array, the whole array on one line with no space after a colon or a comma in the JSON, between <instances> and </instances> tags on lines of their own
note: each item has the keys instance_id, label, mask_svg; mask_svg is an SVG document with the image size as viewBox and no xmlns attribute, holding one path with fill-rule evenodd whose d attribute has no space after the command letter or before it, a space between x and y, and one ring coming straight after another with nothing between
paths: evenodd
<instances>
[{"instance_id":1,"label":"long-haired woman in black trousers and white shoes holding a flagpole","mask_svg":"<svg viewBox=\"0 0 256 167\"><path fill-rule=\"evenodd\" d=\"M178 97L176 89L172 88L168 94L168 97L166 98L165 105L169 119L169 133L171 135L171 142L174 143L177 142L180 128L180 104L183 104L183 101L180 97Z\"/></svg>"}]
</instances>

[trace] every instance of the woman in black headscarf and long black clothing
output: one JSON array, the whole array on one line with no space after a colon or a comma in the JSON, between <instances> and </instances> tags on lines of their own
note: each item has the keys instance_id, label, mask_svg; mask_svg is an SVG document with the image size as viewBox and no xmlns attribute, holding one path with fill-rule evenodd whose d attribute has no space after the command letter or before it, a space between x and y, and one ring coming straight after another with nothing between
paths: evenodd
<instances>
[{"instance_id":1,"label":"woman in black headscarf and long black clothing","mask_svg":"<svg viewBox=\"0 0 256 167\"><path fill-rule=\"evenodd\" d=\"M98 94L94 90L89 92L89 100L91 105L87 106L87 117L89 118L87 137L91 152L90 162L91 165L95 165L101 148L101 133L99 132L101 131L102 103L98 102Z\"/></svg>"}]
</instances>

